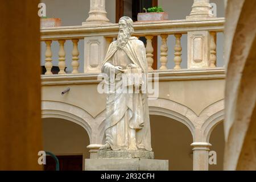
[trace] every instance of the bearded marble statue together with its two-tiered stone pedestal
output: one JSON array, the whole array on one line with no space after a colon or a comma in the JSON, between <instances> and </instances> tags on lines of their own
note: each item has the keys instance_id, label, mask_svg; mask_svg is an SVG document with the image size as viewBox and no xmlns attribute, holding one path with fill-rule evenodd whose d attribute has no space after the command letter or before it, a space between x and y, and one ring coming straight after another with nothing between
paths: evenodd
<instances>
[{"instance_id":1,"label":"bearded marble statue together with its two-tiered stone pedestal","mask_svg":"<svg viewBox=\"0 0 256 182\"><path fill-rule=\"evenodd\" d=\"M141 88L141 82L125 84L122 74L127 70L147 75L146 49L133 34L133 20L124 16L119 20L117 41L109 46L102 73L108 75L105 144L97 152L97 159L85 159L86 171L167 171L168 160L155 160L151 148L150 120L147 92L117 92L122 86Z\"/></svg>"}]
</instances>

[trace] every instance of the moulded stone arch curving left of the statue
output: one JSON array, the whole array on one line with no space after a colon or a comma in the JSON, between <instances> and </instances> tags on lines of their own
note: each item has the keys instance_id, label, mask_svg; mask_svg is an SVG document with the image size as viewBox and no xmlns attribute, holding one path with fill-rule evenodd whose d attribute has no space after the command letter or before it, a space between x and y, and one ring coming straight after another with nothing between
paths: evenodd
<instances>
[{"instance_id":1,"label":"moulded stone arch curving left of the statue","mask_svg":"<svg viewBox=\"0 0 256 182\"><path fill-rule=\"evenodd\" d=\"M93 117L80 107L58 101L42 101L42 118L61 118L74 122L86 130L92 142L92 126L88 121Z\"/></svg>"}]
</instances>

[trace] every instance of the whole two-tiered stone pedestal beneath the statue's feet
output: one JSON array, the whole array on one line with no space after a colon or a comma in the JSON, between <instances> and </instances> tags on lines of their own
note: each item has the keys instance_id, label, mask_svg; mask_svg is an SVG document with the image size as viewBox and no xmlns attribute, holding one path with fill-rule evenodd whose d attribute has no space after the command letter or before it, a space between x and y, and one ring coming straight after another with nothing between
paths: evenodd
<instances>
[{"instance_id":1,"label":"whole two-tiered stone pedestal beneath the statue's feet","mask_svg":"<svg viewBox=\"0 0 256 182\"><path fill-rule=\"evenodd\" d=\"M85 171L168 171L168 160L154 159L152 151L98 151L85 159Z\"/></svg>"}]
</instances>

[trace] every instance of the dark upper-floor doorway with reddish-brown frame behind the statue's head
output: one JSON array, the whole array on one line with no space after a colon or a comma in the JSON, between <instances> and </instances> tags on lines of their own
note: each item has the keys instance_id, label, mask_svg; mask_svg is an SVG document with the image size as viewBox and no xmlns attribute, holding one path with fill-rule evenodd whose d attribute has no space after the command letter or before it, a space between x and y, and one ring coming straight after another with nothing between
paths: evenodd
<instances>
[{"instance_id":1,"label":"dark upper-floor doorway with reddish-brown frame behind the statue's head","mask_svg":"<svg viewBox=\"0 0 256 182\"><path fill-rule=\"evenodd\" d=\"M118 23L122 16L129 16L134 22L137 22L138 13L143 13L143 8L158 6L158 0L115 0L115 22ZM146 38L141 37L140 40L146 44ZM152 47L154 48L153 69L157 69L158 59L158 36L152 39Z\"/></svg>"}]
</instances>

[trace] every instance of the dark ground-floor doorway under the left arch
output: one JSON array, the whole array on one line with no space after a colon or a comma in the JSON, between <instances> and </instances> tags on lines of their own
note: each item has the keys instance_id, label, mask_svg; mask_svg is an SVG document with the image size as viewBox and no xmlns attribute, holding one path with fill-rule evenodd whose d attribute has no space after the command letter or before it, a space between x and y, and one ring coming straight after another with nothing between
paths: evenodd
<instances>
[{"instance_id":1,"label":"dark ground-floor doorway under the left arch","mask_svg":"<svg viewBox=\"0 0 256 182\"><path fill-rule=\"evenodd\" d=\"M82 171L82 155L57 156L60 163L60 171ZM46 156L44 171L55 171L56 163L51 156Z\"/></svg>"}]
</instances>

